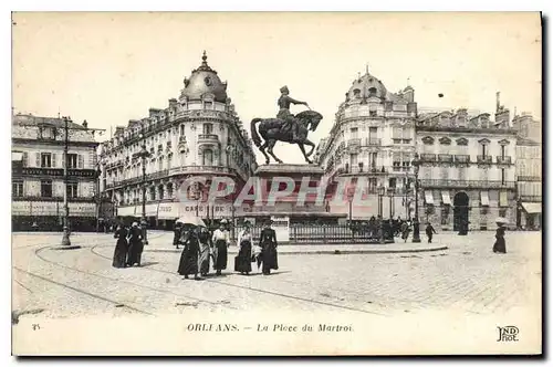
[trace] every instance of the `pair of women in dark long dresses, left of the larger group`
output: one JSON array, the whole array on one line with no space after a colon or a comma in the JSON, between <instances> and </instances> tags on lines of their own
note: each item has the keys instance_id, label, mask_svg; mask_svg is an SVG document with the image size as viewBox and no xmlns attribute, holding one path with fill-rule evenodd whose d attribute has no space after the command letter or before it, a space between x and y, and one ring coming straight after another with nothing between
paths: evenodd
<instances>
[{"instance_id":1,"label":"pair of women in dark long dresses, left of the larger group","mask_svg":"<svg viewBox=\"0 0 553 367\"><path fill-rule=\"evenodd\" d=\"M142 228L133 222L131 228L119 224L115 230L114 238L117 239L113 254L114 268L140 266L144 242Z\"/></svg>"}]
</instances>

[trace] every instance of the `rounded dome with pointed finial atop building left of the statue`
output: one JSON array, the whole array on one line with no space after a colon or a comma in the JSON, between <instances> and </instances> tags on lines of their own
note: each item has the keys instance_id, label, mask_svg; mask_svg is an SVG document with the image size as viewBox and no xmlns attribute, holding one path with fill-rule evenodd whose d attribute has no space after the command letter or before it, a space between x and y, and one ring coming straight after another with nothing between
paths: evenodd
<instances>
[{"instance_id":1,"label":"rounded dome with pointed finial atop building left of the statue","mask_svg":"<svg viewBox=\"0 0 553 367\"><path fill-rule=\"evenodd\" d=\"M209 67L206 51L204 51L201 60L201 65L192 70L190 78L185 77L185 88L180 97L197 101L206 94L212 94L215 101L225 103L227 101L227 83L222 83L217 72Z\"/></svg>"}]
</instances>

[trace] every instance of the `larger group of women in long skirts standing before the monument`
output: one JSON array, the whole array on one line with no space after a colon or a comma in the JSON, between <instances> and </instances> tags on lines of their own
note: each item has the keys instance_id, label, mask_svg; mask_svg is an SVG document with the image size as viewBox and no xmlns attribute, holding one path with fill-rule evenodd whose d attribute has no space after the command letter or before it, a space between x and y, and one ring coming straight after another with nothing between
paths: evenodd
<instances>
[{"instance_id":1,"label":"larger group of women in long skirts standing before the monument","mask_svg":"<svg viewBox=\"0 0 553 367\"><path fill-rule=\"evenodd\" d=\"M207 276L211 261L216 275L221 275L227 269L228 248L231 241L226 220L221 221L212 234L205 227L182 224L176 230L175 238L174 244L177 248L184 247L177 272L185 279L190 275L194 275L195 280ZM259 244L253 243L251 224L247 222L238 235L238 255L234 258L236 272L249 275L252 272L252 263L258 265L258 271L262 268L262 273L265 275L270 274L271 270L279 269L276 235L270 221L261 231Z\"/></svg>"}]
</instances>

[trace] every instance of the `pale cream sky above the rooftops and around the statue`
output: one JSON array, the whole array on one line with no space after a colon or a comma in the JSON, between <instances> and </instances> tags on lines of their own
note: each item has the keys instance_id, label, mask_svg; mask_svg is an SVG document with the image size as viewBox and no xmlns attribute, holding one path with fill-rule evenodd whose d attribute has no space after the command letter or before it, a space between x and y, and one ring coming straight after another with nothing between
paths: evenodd
<instances>
[{"instance_id":1,"label":"pale cream sky above the rooftops and around the statue","mask_svg":"<svg viewBox=\"0 0 553 367\"><path fill-rule=\"evenodd\" d=\"M390 92L407 83L419 108L513 112L541 119L539 13L14 13L12 106L126 126L177 98L202 51L246 126L276 114L279 90L324 118L325 137L354 78L368 70ZM444 97L438 97L438 94ZM302 111L292 107L292 113ZM114 128L115 130L115 128ZM103 139L102 137L100 138ZM276 156L303 162L296 147ZM295 150L294 150L295 149ZM257 151L258 162L262 162Z\"/></svg>"}]
</instances>

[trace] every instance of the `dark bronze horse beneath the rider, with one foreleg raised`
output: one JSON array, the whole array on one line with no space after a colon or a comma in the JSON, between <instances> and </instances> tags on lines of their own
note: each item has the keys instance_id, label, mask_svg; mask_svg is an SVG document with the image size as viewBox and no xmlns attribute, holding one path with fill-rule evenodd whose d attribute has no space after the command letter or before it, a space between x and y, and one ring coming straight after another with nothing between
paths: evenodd
<instances>
[{"instance_id":1,"label":"dark bronze horse beneath the rider, with one foreleg raised","mask_svg":"<svg viewBox=\"0 0 553 367\"><path fill-rule=\"evenodd\" d=\"M305 157L305 161L307 164L313 164L309 157L313 154L315 144L307 139L307 134L309 132L316 130L319 123L323 119L323 115L314 111L304 111L295 115L295 119L299 125L298 139L295 140L293 139L291 129L282 128L286 125L286 122L280 118L253 118L251 120L251 138L253 139L253 144L255 144L259 150L261 150L261 153L265 156L267 165L269 165L270 158L265 153L265 148L275 161L282 164L282 160L280 160L273 153L273 147L276 141L298 144L303 153L303 156ZM259 124L259 134L255 128L258 123L261 123ZM263 138L263 144L261 144L261 137L259 135ZM305 153L305 145L311 147L309 153Z\"/></svg>"}]
</instances>

